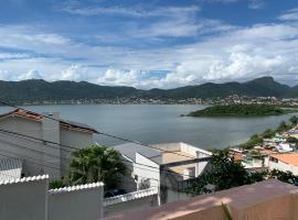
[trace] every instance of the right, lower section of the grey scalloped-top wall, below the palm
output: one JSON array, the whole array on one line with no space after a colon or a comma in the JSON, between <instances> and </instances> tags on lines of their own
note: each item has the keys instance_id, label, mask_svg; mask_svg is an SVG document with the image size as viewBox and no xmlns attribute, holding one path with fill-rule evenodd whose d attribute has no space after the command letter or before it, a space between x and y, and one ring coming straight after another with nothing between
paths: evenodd
<instances>
[{"instance_id":1,"label":"right, lower section of the grey scalloped-top wall, below the palm","mask_svg":"<svg viewBox=\"0 0 298 220\"><path fill-rule=\"evenodd\" d=\"M51 190L52 191L52 190ZM49 220L99 220L103 187L57 190L49 194Z\"/></svg>"}]
</instances>

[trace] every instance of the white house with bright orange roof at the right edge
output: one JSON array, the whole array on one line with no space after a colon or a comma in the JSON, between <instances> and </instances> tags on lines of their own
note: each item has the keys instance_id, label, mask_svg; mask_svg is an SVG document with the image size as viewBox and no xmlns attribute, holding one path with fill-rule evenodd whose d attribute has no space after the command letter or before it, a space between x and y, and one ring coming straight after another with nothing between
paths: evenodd
<instances>
[{"instance_id":1,"label":"white house with bright orange roof at the right edge","mask_svg":"<svg viewBox=\"0 0 298 220\"><path fill-rule=\"evenodd\" d=\"M294 175L298 175L298 153L272 154L269 169L291 172Z\"/></svg>"}]
</instances>

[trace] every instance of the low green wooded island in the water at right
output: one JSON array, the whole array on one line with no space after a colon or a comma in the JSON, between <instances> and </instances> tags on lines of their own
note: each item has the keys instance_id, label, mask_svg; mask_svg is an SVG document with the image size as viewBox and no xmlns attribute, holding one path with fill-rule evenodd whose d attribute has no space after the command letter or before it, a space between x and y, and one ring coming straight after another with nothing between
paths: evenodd
<instances>
[{"instance_id":1,"label":"low green wooded island in the water at right","mask_svg":"<svg viewBox=\"0 0 298 220\"><path fill-rule=\"evenodd\" d=\"M284 110L273 106L260 105L230 105L230 106L213 106L203 110L190 112L189 117L262 117L262 116L278 116L288 113L289 110Z\"/></svg>"}]
</instances>

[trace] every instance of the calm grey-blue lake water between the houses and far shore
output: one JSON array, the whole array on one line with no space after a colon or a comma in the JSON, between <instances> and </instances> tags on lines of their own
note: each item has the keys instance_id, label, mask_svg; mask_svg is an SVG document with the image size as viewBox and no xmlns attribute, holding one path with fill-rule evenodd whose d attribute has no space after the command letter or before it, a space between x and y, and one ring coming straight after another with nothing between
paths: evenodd
<instances>
[{"instance_id":1,"label":"calm grey-blue lake water between the houses and far shore","mask_svg":"<svg viewBox=\"0 0 298 220\"><path fill-rule=\"evenodd\" d=\"M95 105L25 107L36 112L58 111L61 117L87 123L99 131L146 144L187 142L203 148L222 148L246 141L267 128L277 127L291 114L265 118L189 118L180 117L203 106ZM1 107L0 112L11 108ZM98 143L119 142L97 135Z\"/></svg>"}]
</instances>

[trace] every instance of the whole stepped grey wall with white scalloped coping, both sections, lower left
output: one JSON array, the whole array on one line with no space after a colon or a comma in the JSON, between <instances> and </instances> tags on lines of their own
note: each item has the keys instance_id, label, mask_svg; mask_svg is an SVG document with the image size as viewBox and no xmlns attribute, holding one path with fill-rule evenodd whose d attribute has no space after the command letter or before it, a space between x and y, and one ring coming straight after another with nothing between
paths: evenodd
<instances>
[{"instance_id":1,"label":"whole stepped grey wall with white scalloped coping, both sections, lower left","mask_svg":"<svg viewBox=\"0 0 298 220\"><path fill-rule=\"evenodd\" d=\"M49 176L0 183L1 220L103 219L102 183L52 189Z\"/></svg>"}]
</instances>

